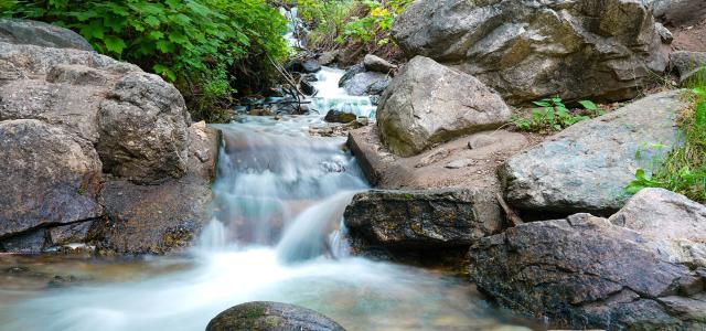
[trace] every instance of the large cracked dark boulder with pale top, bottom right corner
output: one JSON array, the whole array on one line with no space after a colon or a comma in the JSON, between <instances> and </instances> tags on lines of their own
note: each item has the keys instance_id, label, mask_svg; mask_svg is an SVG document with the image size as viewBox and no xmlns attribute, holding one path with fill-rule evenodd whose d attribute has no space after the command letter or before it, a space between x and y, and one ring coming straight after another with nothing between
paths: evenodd
<instances>
[{"instance_id":1,"label":"large cracked dark boulder with pale top, bottom right corner","mask_svg":"<svg viewBox=\"0 0 706 331\"><path fill-rule=\"evenodd\" d=\"M482 239L470 250L471 278L556 327L702 330L706 265L684 256L706 256L704 213L678 194L643 190L613 223L576 214Z\"/></svg>"}]
</instances>

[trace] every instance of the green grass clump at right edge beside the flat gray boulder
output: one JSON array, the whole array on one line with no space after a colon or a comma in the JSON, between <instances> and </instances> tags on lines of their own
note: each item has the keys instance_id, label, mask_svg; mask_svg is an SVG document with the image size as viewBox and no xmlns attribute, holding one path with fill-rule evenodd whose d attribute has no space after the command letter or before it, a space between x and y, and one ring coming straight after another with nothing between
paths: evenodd
<instances>
[{"instance_id":1,"label":"green grass clump at right edge beside the flat gray boulder","mask_svg":"<svg viewBox=\"0 0 706 331\"><path fill-rule=\"evenodd\" d=\"M684 143L675 148L664 160L657 160L651 168L638 169L635 179L625 186L634 194L644 188L663 188L706 202L706 79L693 82L694 106L681 120ZM635 156L640 159L643 151Z\"/></svg>"}]
</instances>

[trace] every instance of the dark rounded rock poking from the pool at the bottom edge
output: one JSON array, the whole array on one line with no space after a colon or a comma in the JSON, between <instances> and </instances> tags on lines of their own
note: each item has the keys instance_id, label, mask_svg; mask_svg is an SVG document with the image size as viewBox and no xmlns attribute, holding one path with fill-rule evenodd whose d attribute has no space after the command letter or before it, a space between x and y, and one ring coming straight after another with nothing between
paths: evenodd
<instances>
[{"instance_id":1,"label":"dark rounded rock poking from the pool at the bottom edge","mask_svg":"<svg viewBox=\"0 0 706 331\"><path fill-rule=\"evenodd\" d=\"M295 305L255 301L232 307L213 318L206 331L344 331L330 318Z\"/></svg>"}]
</instances>

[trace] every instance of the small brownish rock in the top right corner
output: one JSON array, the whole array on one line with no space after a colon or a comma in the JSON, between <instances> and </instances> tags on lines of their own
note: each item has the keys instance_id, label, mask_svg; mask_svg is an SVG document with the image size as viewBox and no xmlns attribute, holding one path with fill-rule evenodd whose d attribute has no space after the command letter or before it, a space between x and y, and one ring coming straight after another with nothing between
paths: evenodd
<instances>
[{"instance_id":1,"label":"small brownish rock in the top right corner","mask_svg":"<svg viewBox=\"0 0 706 331\"><path fill-rule=\"evenodd\" d=\"M654 7L654 17L672 26L700 22L706 17L706 2L702 0L648 0Z\"/></svg>"}]
</instances>

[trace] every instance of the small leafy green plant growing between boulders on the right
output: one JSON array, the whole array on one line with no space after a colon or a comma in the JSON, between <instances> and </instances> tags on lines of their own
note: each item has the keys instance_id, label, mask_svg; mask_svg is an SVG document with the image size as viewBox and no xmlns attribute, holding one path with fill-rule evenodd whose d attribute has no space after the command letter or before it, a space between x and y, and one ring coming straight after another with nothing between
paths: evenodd
<instances>
[{"instance_id":1,"label":"small leafy green plant growing between boulders on the right","mask_svg":"<svg viewBox=\"0 0 706 331\"><path fill-rule=\"evenodd\" d=\"M559 97L546 98L533 104L537 106L527 117L515 116L512 122L522 131L552 132L568 128L581 120L602 115L603 111L590 100L580 100L579 105L588 115L571 113Z\"/></svg>"}]
</instances>

